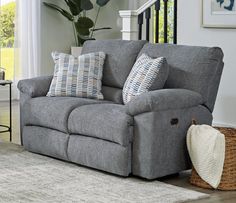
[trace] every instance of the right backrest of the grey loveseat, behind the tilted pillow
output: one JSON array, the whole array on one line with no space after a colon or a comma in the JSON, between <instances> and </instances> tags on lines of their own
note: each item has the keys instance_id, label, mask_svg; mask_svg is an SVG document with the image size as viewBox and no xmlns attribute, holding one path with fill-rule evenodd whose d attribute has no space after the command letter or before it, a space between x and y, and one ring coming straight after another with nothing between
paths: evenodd
<instances>
[{"instance_id":1,"label":"right backrest of the grey loveseat, behind the tilted pillow","mask_svg":"<svg viewBox=\"0 0 236 203\"><path fill-rule=\"evenodd\" d=\"M146 44L139 55L143 53L167 59L170 73L165 88L196 91L213 111L223 70L223 53L220 48Z\"/></svg>"}]
</instances>

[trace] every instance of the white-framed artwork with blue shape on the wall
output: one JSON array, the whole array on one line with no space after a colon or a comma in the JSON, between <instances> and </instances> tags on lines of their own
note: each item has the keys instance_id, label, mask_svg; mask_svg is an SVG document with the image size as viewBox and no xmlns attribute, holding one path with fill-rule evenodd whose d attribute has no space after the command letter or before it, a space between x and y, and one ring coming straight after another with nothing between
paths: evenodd
<instances>
[{"instance_id":1,"label":"white-framed artwork with blue shape on the wall","mask_svg":"<svg viewBox=\"0 0 236 203\"><path fill-rule=\"evenodd\" d=\"M236 0L202 0L202 26L236 28Z\"/></svg>"}]
</instances>

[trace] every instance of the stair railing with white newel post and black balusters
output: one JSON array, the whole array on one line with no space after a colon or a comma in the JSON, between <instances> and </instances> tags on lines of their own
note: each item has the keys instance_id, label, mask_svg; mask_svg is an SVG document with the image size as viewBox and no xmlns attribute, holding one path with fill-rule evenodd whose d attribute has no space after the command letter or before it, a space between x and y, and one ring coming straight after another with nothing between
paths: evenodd
<instances>
[{"instance_id":1,"label":"stair railing with white newel post and black balusters","mask_svg":"<svg viewBox=\"0 0 236 203\"><path fill-rule=\"evenodd\" d=\"M123 40L177 43L177 0L149 0L137 10L119 14Z\"/></svg>"}]
</instances>

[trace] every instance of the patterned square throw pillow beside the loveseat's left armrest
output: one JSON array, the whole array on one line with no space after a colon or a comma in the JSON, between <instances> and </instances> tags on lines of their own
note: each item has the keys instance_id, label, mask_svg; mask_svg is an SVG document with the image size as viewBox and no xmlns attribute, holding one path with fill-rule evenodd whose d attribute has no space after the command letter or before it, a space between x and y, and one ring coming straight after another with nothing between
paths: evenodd
<instances>
[{"instance_id":1,"label":"patterned square throw pillow beside the loveseat's left armrest","mask_svg":"<svg viewBox=\"0 0 236 203\"><path fill-rule=\"evenodd\" d=\"M47 96L103 99L101 89L105 56L103 52L79 57L53 52L55 70Z\"/></svg>"}]
</instances>

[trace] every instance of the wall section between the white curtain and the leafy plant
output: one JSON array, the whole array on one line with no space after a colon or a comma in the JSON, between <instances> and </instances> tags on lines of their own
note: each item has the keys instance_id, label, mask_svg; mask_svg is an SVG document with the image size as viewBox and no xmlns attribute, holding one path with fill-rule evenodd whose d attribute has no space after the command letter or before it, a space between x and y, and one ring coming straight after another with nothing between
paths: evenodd
<instances>
[{"instance_id":1,"label":"wall section between the white curtain and the leafy plant","mask_svg":"<svg viewBox=\"0 0 236 203\"><path fill-rule=\"evenodd\" d=\"M44 2L45 0L41 0ZM60 6L63 1L46 0L45 2L54 3ZM70 47L74 44L72 25L59 13L41 5L41 74L48 75L53 73L54 63L51 57L52 51L69 53Z\"/></svg>"}]
</instances>

